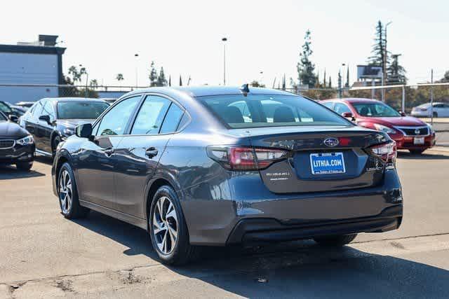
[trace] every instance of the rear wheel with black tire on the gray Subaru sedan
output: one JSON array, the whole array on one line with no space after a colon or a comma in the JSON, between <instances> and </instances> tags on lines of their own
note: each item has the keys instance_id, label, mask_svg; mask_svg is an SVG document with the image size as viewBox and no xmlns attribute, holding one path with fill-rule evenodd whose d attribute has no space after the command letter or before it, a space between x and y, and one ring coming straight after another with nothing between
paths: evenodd
<instances>
[{"instance_id":1,"label":"rear wheel with black tire on the gray Subaru sedan","mask_svg":"<svg viewBox=\"0 0 449 299\"><path fill-rule=\"evenodd\" d=\"M198 248L190 245L184 214L173 188L162 186L156 191L148 219L152 245L162 263L182 265L194 259Z\"/></svg>"}]
</instances>

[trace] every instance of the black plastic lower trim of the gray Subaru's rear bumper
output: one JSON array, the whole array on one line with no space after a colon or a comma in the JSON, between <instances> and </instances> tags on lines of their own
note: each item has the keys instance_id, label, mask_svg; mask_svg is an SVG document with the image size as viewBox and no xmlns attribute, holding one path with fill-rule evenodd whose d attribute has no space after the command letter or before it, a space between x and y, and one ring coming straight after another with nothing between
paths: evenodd
<instances>
[{"instance_id":1,"label":"black plastic lower trim of the gray Subaru's rear bumper","mask_svg":"<svg viewBox=\"0 0 449 299\"><path fill-rule=\"evenodd\" d=\"M402 222L403 207L398 204L386 208L373 217L339 221L319 221L286 225L276 219L252 218L239 221L232 230L227 244L260 244L295 239L310 239L323 235L347 235L358 232L387 232L396 230Z\"/></svg>"}]
</instances>

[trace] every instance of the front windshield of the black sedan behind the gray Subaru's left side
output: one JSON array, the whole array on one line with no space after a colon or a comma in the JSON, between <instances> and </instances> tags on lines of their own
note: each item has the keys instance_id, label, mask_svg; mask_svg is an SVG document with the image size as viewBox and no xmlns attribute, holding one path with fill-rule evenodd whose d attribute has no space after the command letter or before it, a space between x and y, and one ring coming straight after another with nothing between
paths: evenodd
<instances>
[{"instance_id":1,"label":"front windshield of the black sedan behind the gray Subaru's left side","mask_svg":"<svg viewBox=\"0 0 449 299\"><path fill-rule=\"evenodd\" d=\"M109 107L104 102L58 102L58 118L95 119Z\"/></svg>"}]
</instances>

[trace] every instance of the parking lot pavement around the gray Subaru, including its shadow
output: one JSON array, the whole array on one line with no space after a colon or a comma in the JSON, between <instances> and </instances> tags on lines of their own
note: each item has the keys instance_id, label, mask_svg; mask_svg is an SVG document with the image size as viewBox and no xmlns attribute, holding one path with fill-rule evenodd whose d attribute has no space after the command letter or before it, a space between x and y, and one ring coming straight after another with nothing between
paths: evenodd
<instances>
[{"instance_id":1,"label":"parking lot pavement around the gray Subaru, including its shadow","mask_svg":"<svg viewBox=\"0 0 449 299\"><path fill-rule=\"evenodd\" d=\"M145 230L91 213L69 221L50 162L0 168L0 298L449 298L449 153L401 152L399 230L330 249L311 241L208 249L159 263Z\"/></svg>"}]
</instances>

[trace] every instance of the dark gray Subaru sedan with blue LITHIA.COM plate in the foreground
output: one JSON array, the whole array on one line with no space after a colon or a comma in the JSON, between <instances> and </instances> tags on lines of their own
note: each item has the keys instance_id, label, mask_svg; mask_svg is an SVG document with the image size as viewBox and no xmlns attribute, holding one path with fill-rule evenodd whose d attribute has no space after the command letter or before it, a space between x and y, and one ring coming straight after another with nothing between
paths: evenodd
<instances>
[{"instance_id":1,"label":"dark gray Subaru sedan with blue LITHIA.COM plate in the foreground","mask_svg":"<svg viewBox=\"0 0 449 299\"><path fill-rule=\"evenodd\" d=\"M132 223L163 263L181 264L200 245L342 246L395 230L395 159L388 134L289 92L148 88L76 127L56 151L53 192L66 218L93 209Z\"/></svg>"}]
</instances>

